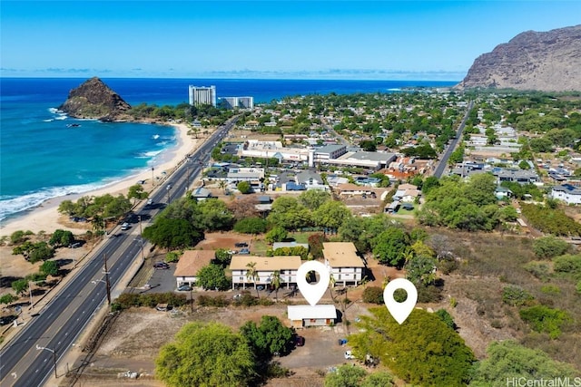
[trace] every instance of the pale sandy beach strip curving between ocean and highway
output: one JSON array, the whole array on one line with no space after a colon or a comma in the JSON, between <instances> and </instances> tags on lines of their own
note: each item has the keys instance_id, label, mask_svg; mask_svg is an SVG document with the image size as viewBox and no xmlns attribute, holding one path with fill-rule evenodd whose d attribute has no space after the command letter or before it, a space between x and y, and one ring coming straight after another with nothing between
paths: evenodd
<instances>
[{"instance_id":1,"label":"pale sandy beach strip curving between ocean and highway","mask_svg":"<svg viewBox=\"0 0 581 387\"><path fill-rule=\"evenodd\" d=\"M175 169L187 155L192 153L193 150L199 146L203 138L194 139L188 134L188 127L182 123L172 124L176 128L176 134L178 135L177 145L170 150L164 150L160 153L162 160L154 165L153 176L155 178L155 185L162 183L163 179L167 179L171 174L173 169ZM209 131L210 132L210 131ZM200 136L198 136L200 137ZM163 173L165 172L165 173ZM72 224L68 222L68 217L59 214L57 209L58 206L64 200L77 200L78 198L84 196L101 196L104 194L112 194L113 196L123 194L127 195L129 188L137 184L140 180L144 180L143 189L147 192L151 192L153 189L152 185L152 169L143 169L136 175L128 177L123 180L119 180L101 189L95 189L93 191L87 191L82 194L66 195L59 198L51 198L44 201L42 205L36 208L32 208L30 211L24 213L17 218L5 219L0 225L0 236L10 236L12 233L18 230L30 230L35 234L39 231L44 231L46 233L53 233L56 229L70 230L74 234L83 234L87 229L91 229L88 224ZM78 226L78 227L72 227Z\"/></svg>"}]
</instances>

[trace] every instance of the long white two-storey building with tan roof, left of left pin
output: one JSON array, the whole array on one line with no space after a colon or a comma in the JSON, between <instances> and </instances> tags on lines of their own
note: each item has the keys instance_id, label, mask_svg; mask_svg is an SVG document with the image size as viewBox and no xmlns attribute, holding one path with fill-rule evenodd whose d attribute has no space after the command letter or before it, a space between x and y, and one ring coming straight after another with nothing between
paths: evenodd
<instances>
[{"instance_id":1,"label":"long white two-storey building with tan roof, left of left pin","mask_svg":"<svg viewBox=\"0 0 581 387\"><path fill-rule=\"evenodd\" d=\"M247 276L252 264L257 276L254 279ZM291 284L297 283L300 264L300 256L232 256L232 289L240 286L245 289L247 285L270 285L275 270L281 274L281 287L290 288Z\"/></svg>"}]
</instances>

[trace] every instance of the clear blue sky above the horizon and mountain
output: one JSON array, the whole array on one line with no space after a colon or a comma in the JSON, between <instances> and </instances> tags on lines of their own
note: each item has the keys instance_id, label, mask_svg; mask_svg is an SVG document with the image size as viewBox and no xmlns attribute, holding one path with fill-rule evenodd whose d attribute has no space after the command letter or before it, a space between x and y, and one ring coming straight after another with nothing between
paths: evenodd
<instances>
[{"instance_id":1,"label":"clear blue sky above the horizon and mountain","mask_svg":"<svg viewBox=\"0 0 581 387\"><path fill-rule=\"evenodd\" d=\"M581 1L6 1L0 75L459 81Z\"/></svg>"}]
</instances>

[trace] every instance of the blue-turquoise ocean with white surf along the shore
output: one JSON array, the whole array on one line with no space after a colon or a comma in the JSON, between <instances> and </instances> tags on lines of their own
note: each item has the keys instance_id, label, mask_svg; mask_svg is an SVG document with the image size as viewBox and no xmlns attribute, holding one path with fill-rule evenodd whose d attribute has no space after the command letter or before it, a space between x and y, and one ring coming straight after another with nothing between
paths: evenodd
<instances>
[{"instance_id":1,"label":"blue-turquoise ocean with white surf along the shore","mask_svg":"<svg viewBox=\"0 0 581 387\"><path fill-rule=\"evenodd\" d=\"M131 105L188 102L188 85L218 98L394 92L457 82L102 78ZM75 120L56 110L86 78L0 78L0 221L49 198L84 193L151 169L176 145L172 127ZM80 126L71 127L71 124Z\"/></svg>"}]
</instances>

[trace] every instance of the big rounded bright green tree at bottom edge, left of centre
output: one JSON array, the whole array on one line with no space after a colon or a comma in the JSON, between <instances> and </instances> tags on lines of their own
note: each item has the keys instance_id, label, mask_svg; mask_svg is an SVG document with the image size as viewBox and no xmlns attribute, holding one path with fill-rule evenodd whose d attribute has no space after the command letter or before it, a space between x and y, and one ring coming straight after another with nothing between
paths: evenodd
<instances>
[{"instance_id":1,"label":"big rounded bright green tree at bottom edge, left of centre","mask_svg":"<svg viewBox=\"0 0 581 387\"><path fill-rule=\"evenodd\" d=\"M254 368L244 337L219 323L184 325L155 360L155 375L169 387L249 386Z\"/></svg>"}]
</instances>

